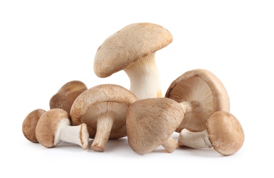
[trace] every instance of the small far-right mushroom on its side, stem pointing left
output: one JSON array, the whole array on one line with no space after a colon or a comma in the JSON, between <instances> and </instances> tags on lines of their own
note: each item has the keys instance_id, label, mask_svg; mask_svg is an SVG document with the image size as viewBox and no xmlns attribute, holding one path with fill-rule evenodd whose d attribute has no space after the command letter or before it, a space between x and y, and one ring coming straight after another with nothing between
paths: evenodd
<instances>
[{"instance_id":1,"label":"small far-right mushroom on its side, stem pointing left","mask_svg":"<svg viewBox=\"0 0 274 178\"><path fill-rule=\"evenodd\" d=\"M206 130L191 132L183 129L179 134L179 147L194 149L214 148L222 155L232 155L242 147L245 134L238 119L229 112L214 112L206 120Z\"/></svg>"}]
</instances>

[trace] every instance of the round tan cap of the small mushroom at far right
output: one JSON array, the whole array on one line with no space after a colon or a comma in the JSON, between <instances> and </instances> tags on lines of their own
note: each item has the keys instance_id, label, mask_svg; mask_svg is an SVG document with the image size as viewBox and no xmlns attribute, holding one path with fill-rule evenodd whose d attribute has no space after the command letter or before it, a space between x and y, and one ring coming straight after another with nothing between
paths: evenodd
<instances>
[{"instance_id":1,"label":"round tan cap of the small mushroom at far right","mask_svg":"<svg viewBox=\"0 0 274 178\"><path fill-rule=\"evenodd\" d=\"M212 147L222 155L236 153L244 143L245 133L239 120L229 112L214 112L206 121Z\"/></svg>"}]
</instances>

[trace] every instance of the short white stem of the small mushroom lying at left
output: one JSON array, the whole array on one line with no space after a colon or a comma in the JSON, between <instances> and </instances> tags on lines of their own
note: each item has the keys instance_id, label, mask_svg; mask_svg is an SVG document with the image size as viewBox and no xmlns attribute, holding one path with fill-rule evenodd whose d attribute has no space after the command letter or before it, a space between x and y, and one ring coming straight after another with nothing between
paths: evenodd
<instances>
[{"instance_id":1,"label":"short white stem of the small mushroom lying at left","mask_svg":"<svg viewBox=\"0 0 274 178\"><path fill-rule=\"evenodd\" d=\"M78 144L83 149L88 147L88 128L86 124L71 126L69 119L60 120L58 128L55 131L55 138L53 145L58 145L61 141Z\"/></svg>"}]
</instances>

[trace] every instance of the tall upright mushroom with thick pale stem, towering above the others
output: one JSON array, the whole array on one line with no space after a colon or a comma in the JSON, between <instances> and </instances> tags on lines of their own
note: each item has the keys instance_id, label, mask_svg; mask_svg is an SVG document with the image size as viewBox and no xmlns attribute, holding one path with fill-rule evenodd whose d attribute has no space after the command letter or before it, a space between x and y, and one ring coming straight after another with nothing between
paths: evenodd
<instances>
[{"instance_id":1,"label":"tall upright mushroom with thick pale stem, towering above the others","mask_svg":"<svg viewBox=\"0 0 274 178\"><path fill-rule=\"evenodd\" d=\"M97 49L94 71L109 77L125 71L138 99L162 97L155 52L173 41L170 31L153 23L132 23L107 38Z\"/></svg>"}]
</instances>

